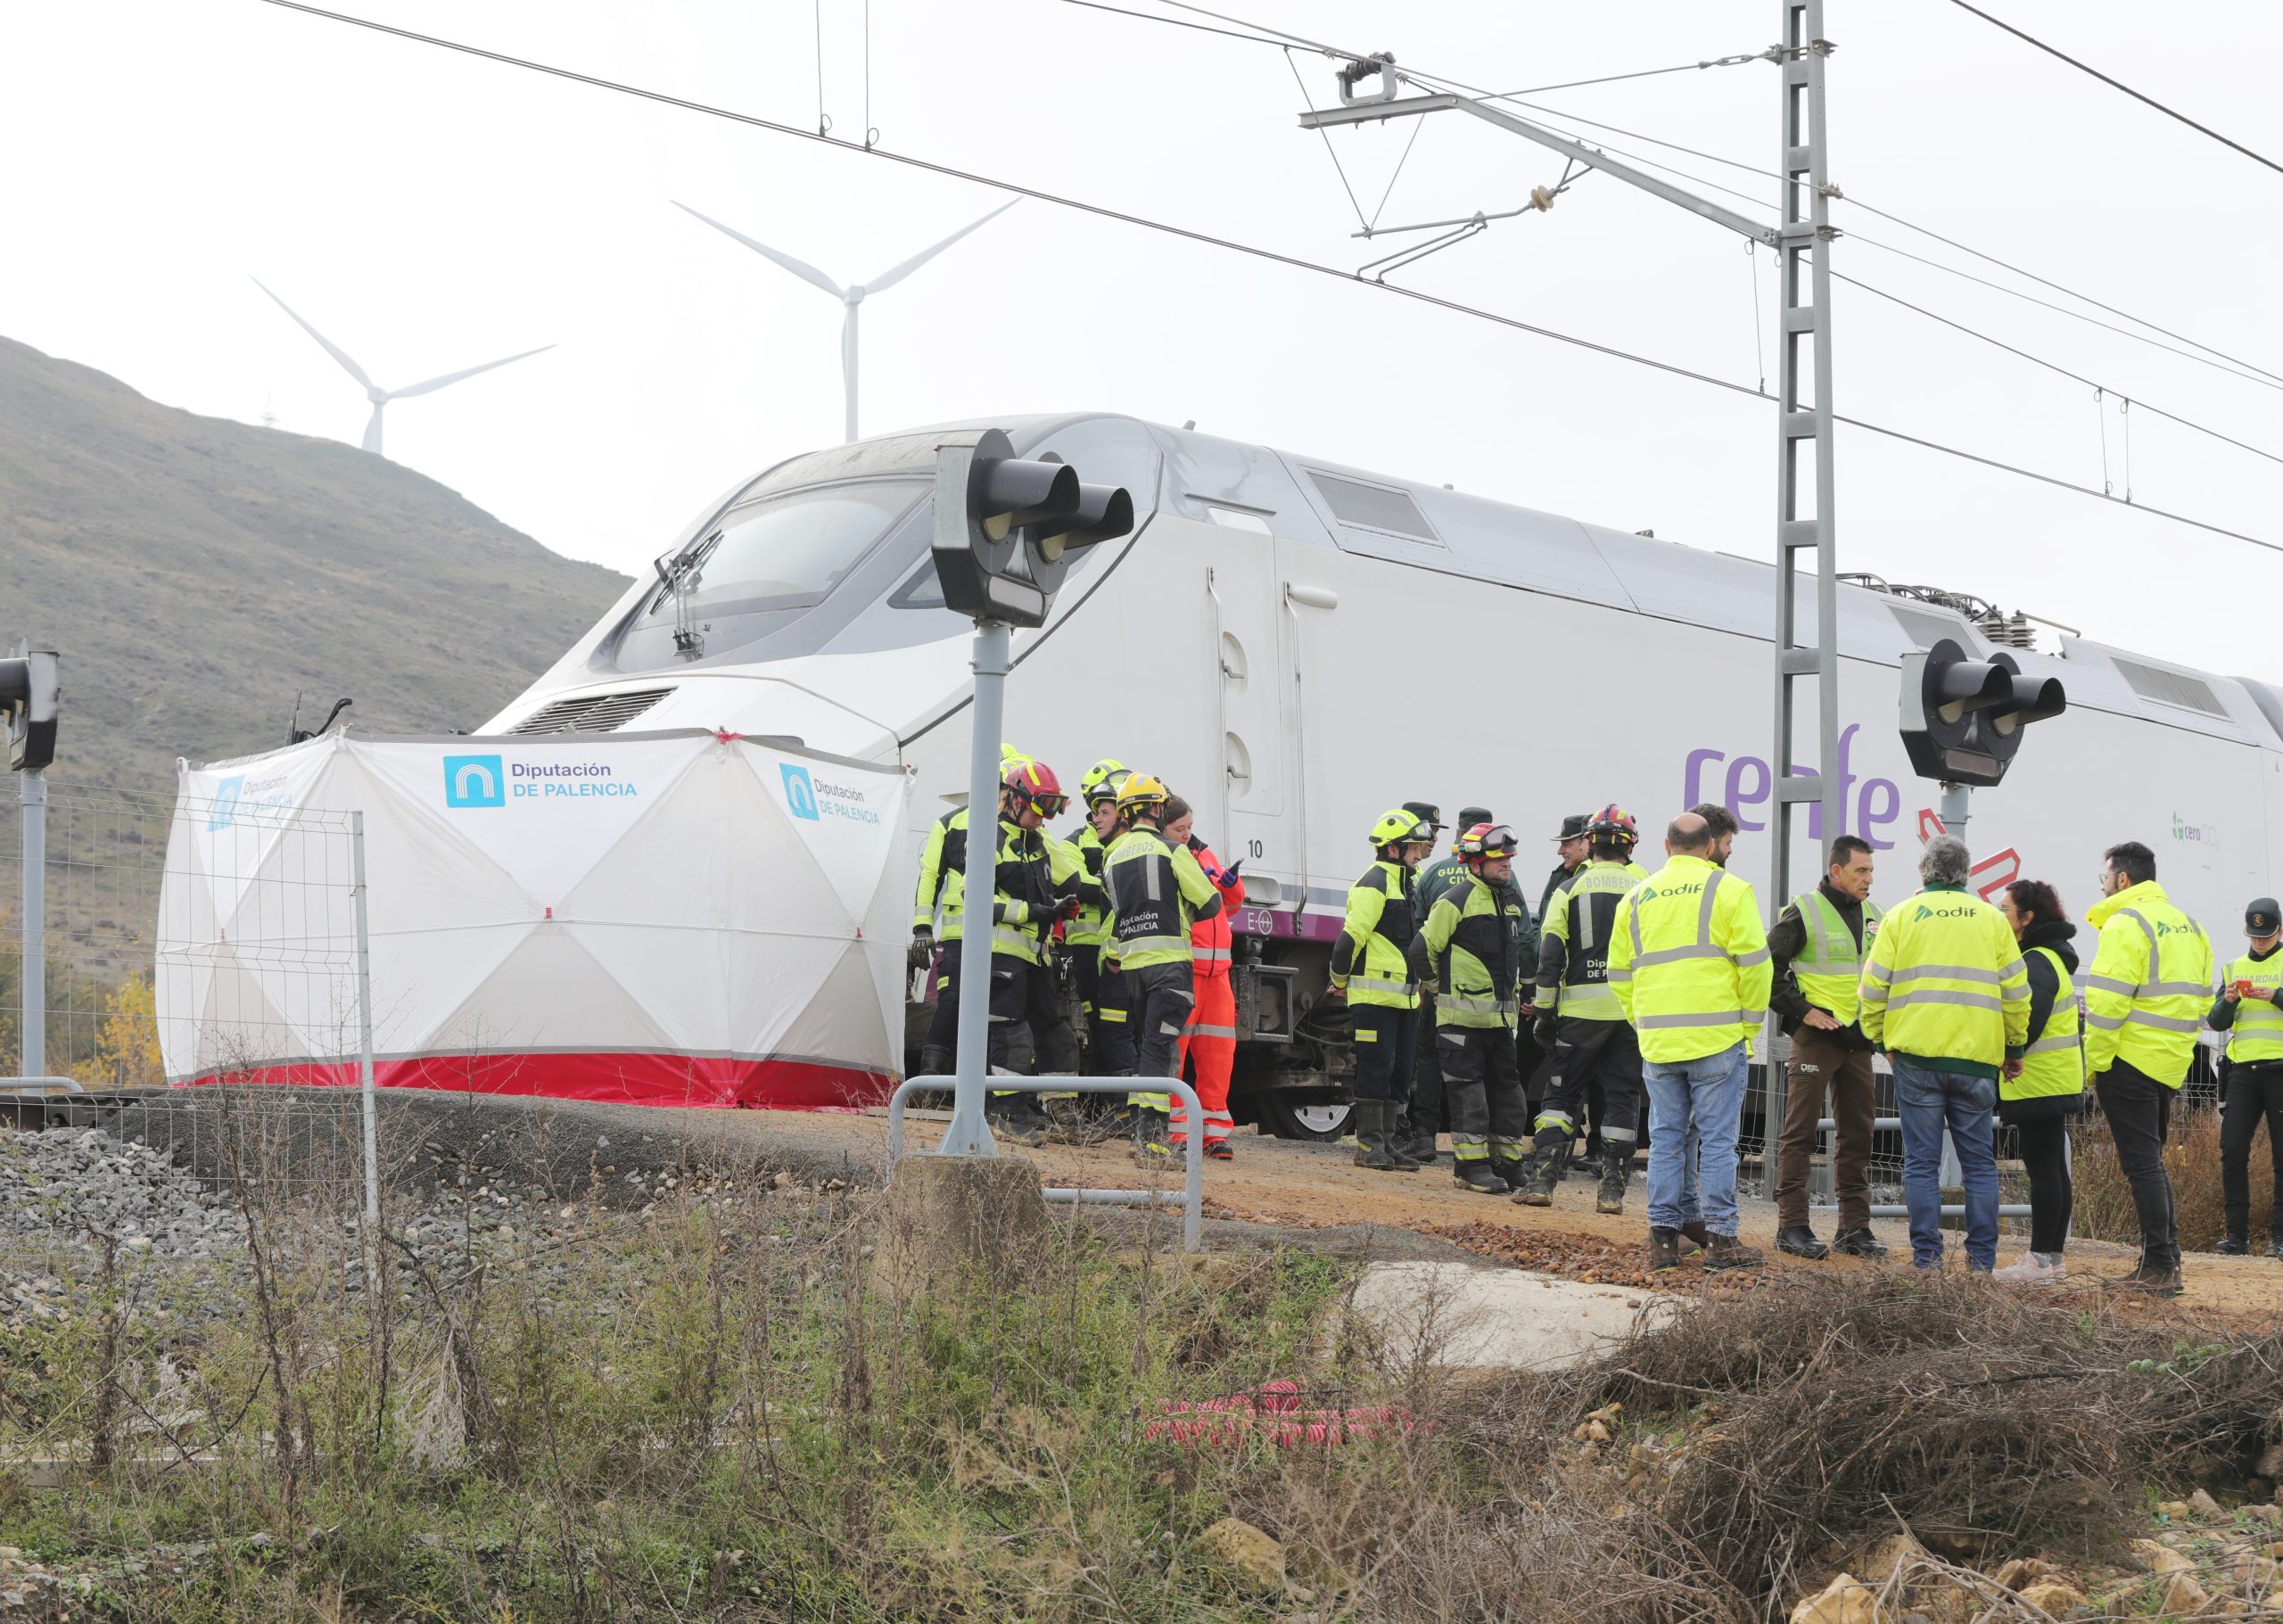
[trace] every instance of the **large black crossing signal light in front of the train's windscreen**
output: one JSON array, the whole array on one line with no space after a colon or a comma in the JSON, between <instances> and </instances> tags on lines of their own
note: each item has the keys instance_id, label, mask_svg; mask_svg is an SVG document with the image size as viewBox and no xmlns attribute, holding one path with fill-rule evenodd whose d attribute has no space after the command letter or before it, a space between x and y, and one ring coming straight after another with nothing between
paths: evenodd
<instances>
[{"instance_id":1,"label":"large black crossing signal light in front of the train's windscreen","mask_svg":"<svg viewBox=\"0 0 2283 1624\"><path fill-rule=\"evenodd\" d=\"M1043 626L1071 557L1132 528L1121 487L1084 484L1052 452L1016 457L1000 429L936 445L936 580L954 614Z\"/></svg>"}]
</instances>

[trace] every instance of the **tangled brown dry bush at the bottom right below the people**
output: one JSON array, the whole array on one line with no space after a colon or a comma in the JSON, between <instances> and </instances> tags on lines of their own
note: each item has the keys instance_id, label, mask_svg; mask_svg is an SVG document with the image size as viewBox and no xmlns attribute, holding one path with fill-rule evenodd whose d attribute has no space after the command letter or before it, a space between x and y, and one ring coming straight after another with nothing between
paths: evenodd
<instances>
[{"instance_id":1,"label":"tangled brown dry bush at the bottom right below the people","mask_svg":"<svg viewBox=\"0 0 2283 1624\"><path fill-rule=\"evenodd\" d=\"M1701 1583L1788 1597L1897 1523L1952 1553L2089 1551L2189 1457L2246 1469L2283 1407L2283 1334L1863 1270L1708 1302L1557 1391L1557 1428L1612 1400L1635 1428L1687 1425L1644 1510Z\"/></svg>"}]
</instances>

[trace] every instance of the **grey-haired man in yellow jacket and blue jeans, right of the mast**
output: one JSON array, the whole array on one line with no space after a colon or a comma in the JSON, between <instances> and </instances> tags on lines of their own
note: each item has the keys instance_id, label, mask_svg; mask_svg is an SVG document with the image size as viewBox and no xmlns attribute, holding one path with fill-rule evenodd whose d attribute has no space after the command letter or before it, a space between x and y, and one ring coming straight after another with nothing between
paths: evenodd
<instances>
[{"instance_id":1,"label":"grey-haired man in yellow jacket and blue jeans, right of the mast","mask_svg":"<svg viewBox=\"0 0 2283 1624\"><path fill-rule=\"evenodd\" d=\"M1998 1071L2030 1037L2030 971L2004 914L1966 889L1966 841L1918 854L1925 889L1888 909L1863 962L1863 1035L1895 1067L1911 1263L1943 1265L1943 1131L1966 1188L1966 1268L1998 1268Z\"/></svg>"}]
</instances>

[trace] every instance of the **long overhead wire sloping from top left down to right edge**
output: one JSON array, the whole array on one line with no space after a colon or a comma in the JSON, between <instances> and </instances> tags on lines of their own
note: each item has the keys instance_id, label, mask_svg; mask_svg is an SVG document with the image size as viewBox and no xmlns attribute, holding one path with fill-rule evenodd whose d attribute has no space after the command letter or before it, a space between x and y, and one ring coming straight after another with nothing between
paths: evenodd
<instances>
[{"instance_id":1,"label":"long overhead wire sloping from top left down to right edge","mask_svg":"<svg viewBox=\"0 0 2283 1624\"><path fill-rule=\"evenodd\" d=\"M1317 276L1333 276L1333 279L1338 279L1342 283L1349 283L1349 286L1356 286L1356 288L1374 288L1374 290L1381 290L1381 292L1388 292L1388 295L1395 295L1395 297L1402 297L1402 299L1413 299L1418 304L1427 304L1427 306L1434 306L1434 308L1441 308L1441 311L1452 311L1457 315L1470 315L1470 317L1477 317L1477 320L1484 320L1484 322L1493 322L1498 327L1509 327L1514 331L1532 333L1532 336L1539 336L1539 338L1550 338L1555 343L1571 345L1575 349L1587 349L1591 354L1612 356L1616 361L1630 361L1635 365L1644 365L1644 368L1651 368L1655 372L1667 372L1671 377L1683 377L1683 379L1689 379L1694 384L1705 384L1710 388L1719 388L1719 391L1726 391L1731 395L1744 395L1749 400L1769 400L1769 402L1774 400L1774 395L1769 395L1767 391L1753 388L1751 384L1737 384L1733 379L1715 377L1712 372L1699 372L1694 368L1685 368L1685 365L1678 365L1673 361L1660 361L1655 356L1644 356L1644 354L1635 354L1630 349L1619 349L1616 345L1605 345L1605 343L1598 343L1594 338L1580 338L1575 333L1564 333L1564 331L1552 329L1552 327L1539 327L1536 322L1525 322L1520 317L1504 315L1500 311L1484 311L1484 308L1473 306L1473 304L1461 304L1459 299L1445 299L1441 295L1422 292L1420 288L1406 288L1402 283L1383 283L1383 281L1361 279L1354 272L1340 270L1338 265L1324 265L1320 260L1299 258L1297 254L1281 254L1276 249L1265 249L1265 247L1258 247L1258 244L1251 244L1251 242L1237 242L1233 238L1217 238L1217 235L1212 235L1208 231L1194 231L1189 226L1176 226L1171 222L1151 219L1146 215L1132 215L1132 212L1126 212L1126 210L1119 210L1119 208L1110 208L1105 203L1089 203L1084 199L1062 196L1057 192L1046 192L1041 187L1027 187L1027 185L1018 185L1014 180L1000 180L995 176L977 174L973 169L959 169L954 164L943 164L943 162L936 162L936 160L929 160L929 158L920 158L915 153L897 153L897 151L890 151L886 146L865 148L865 146L861 146L856 142L847 142L847 139L840 139L840 137L833 137L833 135L820 135L815 130L804 130L797 123L781 123L776 119L763 119L760 114L737 112L733 107L717 107L717 105L710 105L710 103L692 101L687 96L673 96L669 91L658 91L658 89L648 89L648 87L642 87L642 85L628 85L623 80L607 80L607 78L600 78L596 73L580 73L578 69L564 69L564 66L557 66L552 62L537 62L532 57L516 57L516 55L509 55L505 50L491 50L486 46L475 46L475 43L466 43L466 41L459 41L459 39L445 39L441 34L422 34L422 32L411 30L411 27L397 27L395 23L381 23L377 18L354 16L349 11L329 11L326 7L308 5L308 0L258 0L258 2L276 7L281 11L297 11L301 16L322 18L326 23L340 23L345 27L363 27L363 30L374 32L374 34L388 34L393 39L404 39L409 43L429 46L429 48L436 48L436 50L452 50L452 53L459 53L459 55L466 55L466 57L479 57L484 62L493 62L493 64L509 66L509 69L521 69L525 73L541 73L541 75L557 78L557 80L564 80L564 82L571 82L571 85L587 85L589 89L605 89L605 91L612 91L612 94L619 94L619 96L632 96L637 101L648 101L648 103L655 103L655 105L662 105L662 107L678 107L683 112L696 112L696 114L705 114L710 119L724 119L724 121L731 121L731 123L742 123L742 126L753 128L753 130L767 130L772 135L783 135L783 137L792 137L792 139L799 139L799 142L815 142L820 146L831 146L836 151L852 153L852 155L858 155L858 158L879 158L879 160L886 160L886 162L893 162L893 164L902 164L906 169L918 169L918 171L925 171L925 174L938 174L938 176L945 176L945 178L952 178L952 180L968 180L973 185L986 185L986 187L993 187L993 190L1000 190L1000 192L1014 192L1016 196L1036 199L1041 203L1055 203L1057 208L1068 208L1068 210L1075 210L1075 212L1082 212L1082 215L1094 215L1098 219L1114 219L1119 224L1142 226L1146 231L1157 231L1157 233L1164 233L1164 235L1171 235L1171 238L1180 238L1185 242L1199 242L1199 244L1217 247L1217 249L1224 249L1224 251L1231 251L1231 254L1244 254L1249 258L1258 258L1258 260L1265 260L1269 265L1285 265L1290 270L1304 270L1304 272L1310 272L1310 274L1317 274ZM2062 480L2062 477L2050 475L2050 473L2036 473L2034 468L2023 468L2018 464L2000 461L1995 457L1984 457L1979 452L1970 452L1970 450L1963 450L1959 445L1947 445L1943 441L1929 441L1929 439L1922 439L1918 434L1906 434L1904 429L1893 429L1893 427L1886 427L1886 425L1879 425L1879 423L1867 423L1863 418L1849 418L1849 416L1833 413L1833 420L1842 423L1847 427L1863 429L1867 434L1879 434L1879 436L1886 436L1886 439L1893 439L1893 441L1902 441L1906 445L1918 445L1922 450L1941 452L1945 457L1957 457L1961 461L1973 461L1973 464L1979 464L1984 468L1995 468L2000 473L2011 473L2011 475L2018 475L2023 480L2034 480L2039 484L2050 484L2050 487L2064 489L2064 491L2078 491L2080 496L2091 496L2094 500L2109 503L2107 496L2103 496L2100 491L2096 491L2091 487L2075 484L2073 480ZM2114 505L2114 503L2109 503L2109 505ZM2189 514L2178 514L2178 512L2171 512L2171 509L2148 507L2148 505L2135 505L2135 512L2151 514L2155 518L2167 518L2171 523L2187 525L2192 530L2203 530L2208 534L2228 537L2233 541L2244 541L2249 546L2265 548L2269 553L2283 553L2283 541L2265 541L2260 537L2244 534L2242 530L2228 530L2226 525L2212 523L2208 518L2194 518Z\"/></svg>"}]
</instances>

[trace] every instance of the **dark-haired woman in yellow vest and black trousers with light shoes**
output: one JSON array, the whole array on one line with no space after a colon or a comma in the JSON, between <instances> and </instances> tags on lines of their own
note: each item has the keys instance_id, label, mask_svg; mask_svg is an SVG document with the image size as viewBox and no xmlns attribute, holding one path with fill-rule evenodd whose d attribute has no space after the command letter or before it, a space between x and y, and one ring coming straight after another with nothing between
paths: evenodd
<instances>
[{"instance_id":1,"label":"dark-haired woman in yellow vest and black trousers with light shoes","mask_svg":"<svg viewBox=\"0 0 2283 1624\"><path fill-rule=\"evenodd\" d=\"M2068 1275L2062 1261L2073 1195L2068 1119L2084 1110L2084 1042L2071 980L2078 950L2068 946L2078 927L2043 879L2016 879L1998 898L1998 909L2014 927L2030 971L2030 1037L1998 1078L1998 1121L2020 1137L2020 1165L2030 1174L2030 1252L1991 1279L2050 1286Z\"/></svg>"}]
</instances>

